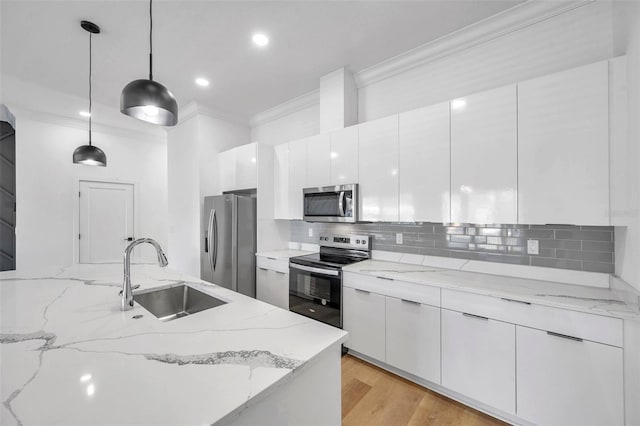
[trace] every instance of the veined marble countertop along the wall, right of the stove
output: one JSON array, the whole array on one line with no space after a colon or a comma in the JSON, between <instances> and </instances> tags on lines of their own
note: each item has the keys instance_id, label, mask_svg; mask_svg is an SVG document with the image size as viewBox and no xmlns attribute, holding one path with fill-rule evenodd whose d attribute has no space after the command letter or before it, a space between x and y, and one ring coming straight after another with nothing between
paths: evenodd
<instances>
[{"instance_id":1,"label":"veined marble countertop along the wall, right of the stove","mask_svg":"<svg viewBox=\"0 0 640 426\"><path fill-rule=\"evenodd\" d=\"M624 301L616 292L607 288L381 260L354 263L344 267L343 270L487 296L513 298L591 314L640 319L638 304ZM389 281L389 285L392 286L393 282Z\"/></svg>"}]
</instances>

